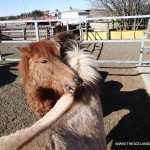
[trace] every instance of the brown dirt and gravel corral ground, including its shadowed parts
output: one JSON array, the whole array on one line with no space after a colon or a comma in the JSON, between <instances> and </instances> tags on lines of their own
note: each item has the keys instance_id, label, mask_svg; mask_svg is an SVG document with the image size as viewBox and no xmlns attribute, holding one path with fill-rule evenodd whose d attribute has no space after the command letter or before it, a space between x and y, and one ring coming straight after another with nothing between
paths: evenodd
<instances>
[{"instance_id":1,"label":"brown dirt and gravel corral ground, including its shadowed parts","mask_svg":"<svg viewBox=\"0 0 150 150\"><path fill-rule=\"evenodd\" d=\"M16 47L0 44L3 57L20 58ZM99 43L85 46L100 60L138 60L140 43ZM145 60L149 59L144 56ZM150 98L135 65L98 64L104 79L102 107L110 150L150 149ZM32 125L17 62L0 63L0 136ZM118 142L125 144L118 145ZM125 142L125 143L124 143ZM148 145L146 145L148 144Z\"/></svg>"}]
</instances>

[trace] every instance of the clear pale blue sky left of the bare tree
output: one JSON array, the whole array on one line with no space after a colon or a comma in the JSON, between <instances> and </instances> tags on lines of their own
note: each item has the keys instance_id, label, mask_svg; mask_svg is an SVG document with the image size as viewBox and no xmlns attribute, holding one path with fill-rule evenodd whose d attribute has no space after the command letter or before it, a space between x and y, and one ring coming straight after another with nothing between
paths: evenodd
<instances>
[{"instance_id":1,"label":"clear pale blue sky left of the bare tree","mask_svg":"<svg viewBox=\"0 0 150 150\"><path fill-rule=\"evenodd\" d=\"M0 0L0 16L19 15L33 10L88 9L88 0Z\"/></svg>"}]
</instances>

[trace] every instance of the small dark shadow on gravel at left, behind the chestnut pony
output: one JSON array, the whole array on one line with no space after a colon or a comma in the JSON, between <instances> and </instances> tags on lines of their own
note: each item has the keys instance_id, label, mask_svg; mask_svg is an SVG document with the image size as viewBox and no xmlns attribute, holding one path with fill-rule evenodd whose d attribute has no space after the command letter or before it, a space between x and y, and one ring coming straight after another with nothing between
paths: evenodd
<instances>
[{"instance_id":1,"label":"small dark shadow on gravel at left, behind the chestnut pony","mask_svg":"<svg viewBox=\"0 0 150 150\"><path fill-rule=\"evenodd\" d=\"M16 62L0 64L0 87L15 81L17 75L13 74L10 70L13 70L12 67L17 65L18 63Z\"/></svg>"}]
</instances>

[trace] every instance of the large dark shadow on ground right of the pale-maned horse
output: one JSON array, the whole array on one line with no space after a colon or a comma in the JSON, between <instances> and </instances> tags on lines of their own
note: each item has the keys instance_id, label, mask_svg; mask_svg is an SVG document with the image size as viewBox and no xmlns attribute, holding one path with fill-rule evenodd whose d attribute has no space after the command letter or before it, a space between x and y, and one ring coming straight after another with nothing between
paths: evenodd
<instances>
[{"instance_id":1,"label":"large dark shadow on ground right of the pale-maned horse","mask_svg":"<svg viewBox=\"0 0 150 150\"><path fill-rule=\"evenodd\" d=\"M125 115L107 135L107 143L113 140L111 150L149 150L141 142L150 144L150 98L144 89L120 91L122 84L118 81L104 83L102 106L104 117L112 112L128 109ZM113 119L113 118L112 118ZM116 142L140 142L133 146L117 146ZM133 144L133 143L131 143Z\"/></svg>"}]
</instances>

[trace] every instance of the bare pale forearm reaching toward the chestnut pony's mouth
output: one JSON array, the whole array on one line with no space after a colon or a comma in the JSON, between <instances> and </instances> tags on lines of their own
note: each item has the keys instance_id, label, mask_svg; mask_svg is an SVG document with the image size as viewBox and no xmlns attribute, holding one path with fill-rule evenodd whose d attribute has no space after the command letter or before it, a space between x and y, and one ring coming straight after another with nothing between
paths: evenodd
<instances>
[{"instance_id":1,"label":"bare pale forearm reaching toward the chestnut pony's mouth","mask_svg":"<svg viewBox=\"0 0 150 150\"><path fill-rule=\"evenodd\" d=\"M66 110L68 110L73 103L73 96L71 94L63 95L55 104L55 106L33 126L16 131L13 134L0 138L1 150L17 150L22 144L39 133L41 130L48 127L51 123L56 121Z\"/></svg>"}]
</instances>

